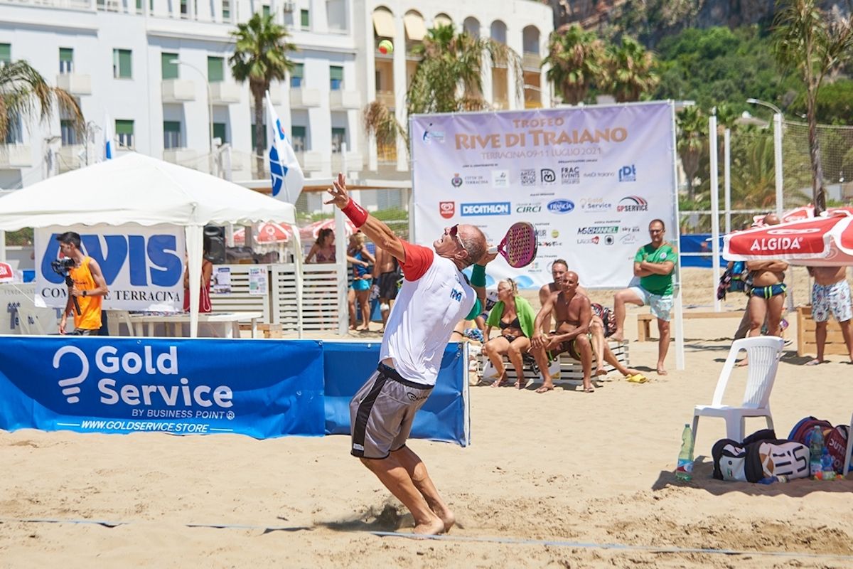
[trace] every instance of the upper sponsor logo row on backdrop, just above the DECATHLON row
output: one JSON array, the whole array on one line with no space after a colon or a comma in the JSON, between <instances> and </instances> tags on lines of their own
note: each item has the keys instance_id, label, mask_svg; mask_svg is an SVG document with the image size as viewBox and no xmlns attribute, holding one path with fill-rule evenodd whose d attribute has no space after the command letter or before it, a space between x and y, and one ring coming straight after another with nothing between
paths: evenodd
<instances>
[{"instance_id":1,"label":"upper sponsor logo row on backdrop, just above the DECATHLON row","mask_svg":"<svg viewBox=\"0 0 853 569\"><path fill-rule=\"evenodd\" d=\"M556 170L554 168L522 168L519 171L518 183L524 187L553 186L559 180L560 185L571 186L581 183L581 178L607 177L616 178L619 182L636 182L636 166L633 164L624 165L617 171L583 171L580 166L560 166ZM457 172L450 178L450 185L454 188L461 188L463 185L485 186L491 183L492 188L508 188L513 181L509 170L492 170L491 180L482 174L461 176Z\"/></svg>"}]
</instances>

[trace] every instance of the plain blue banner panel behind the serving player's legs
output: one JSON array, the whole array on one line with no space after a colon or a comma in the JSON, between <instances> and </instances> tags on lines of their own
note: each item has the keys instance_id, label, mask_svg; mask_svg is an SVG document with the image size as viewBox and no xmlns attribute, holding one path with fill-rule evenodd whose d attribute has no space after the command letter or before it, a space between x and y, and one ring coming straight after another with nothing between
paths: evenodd
<instances>
[{"instance_id":1,"label":"plain blue banner panel behind the serving player's legs","mask_svg":"<svg viewBox=\"0 0 853 569\"><path fill-rule=\"evenodd\" d=\"M323 342L326 369L326 433L350 433L350 399L376 371L380 343ZM461 344L448 344L438 381L415 415L412 438L467 446L467 362Z\"/></svg>"}]
</instances>

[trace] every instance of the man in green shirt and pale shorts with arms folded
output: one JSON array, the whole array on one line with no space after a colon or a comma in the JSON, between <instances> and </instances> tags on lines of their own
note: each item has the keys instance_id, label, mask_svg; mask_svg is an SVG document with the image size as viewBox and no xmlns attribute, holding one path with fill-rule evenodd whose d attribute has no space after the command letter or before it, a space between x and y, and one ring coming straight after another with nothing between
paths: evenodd
<instances>
[{"instance_id":1,"label":"man in green shirt and pale shorts with arms folded","mask_svg":"<svg viewBox=\"0 0 853 569\"><path fill-rule=\"evenodd\" d=\"M649 305L658 318L658 374L666 375L664 360L670 348L670 311L672 311L672 273L676 270L677 255L673 247L664 242L664 222L655 219L648 224L652 242L640 247L634 258L634 276L640 286L620 290L613 296L616 313L616 332L612 339L624 339L625 303Z\"/></svg>"}]
</instances>

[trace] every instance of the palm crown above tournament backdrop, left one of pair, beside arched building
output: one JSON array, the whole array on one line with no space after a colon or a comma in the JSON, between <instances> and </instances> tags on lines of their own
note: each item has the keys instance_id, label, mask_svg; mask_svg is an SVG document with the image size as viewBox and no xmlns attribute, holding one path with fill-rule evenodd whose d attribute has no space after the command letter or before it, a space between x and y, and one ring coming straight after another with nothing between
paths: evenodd
<instances>
[{"instance_id":1,"label":"palm crown above tournament backdrop, left one of pair, beside arched building","mask_svg":"<svg viewBox=\"0 0 853 569\"><path fill-rule=\"evenodd\" d=\"M563 102L577 105L586 98L589 87L604 78L604 60L601 39L574 23L551 33L542 64L550 66L545 77L560 91Z\"/></svg>"}]
</instances>

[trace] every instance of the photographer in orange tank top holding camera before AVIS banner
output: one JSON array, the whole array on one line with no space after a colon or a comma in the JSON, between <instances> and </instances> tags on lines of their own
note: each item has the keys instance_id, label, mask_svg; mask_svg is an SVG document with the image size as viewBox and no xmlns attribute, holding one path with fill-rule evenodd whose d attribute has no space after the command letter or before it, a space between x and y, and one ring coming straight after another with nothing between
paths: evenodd
<instances>
[{"instance_id":1,"label":"photographer in orange tank top holding camera before AVIS banner","mask_svg":"<svg viewBox=\"0 0 853 569\"><path fill-rule=\"evenodd\" d=\"M101 329L101 302L107 294L107 282L101 266L94 258L80 251L80 235L66 231L56 237L65 258L52 263L53 270L65 277L68 285L68 302L62 311L59 333L65 331L68 315L74 315L74 331L78 336L96 336Z\"/></svg>"}]
</instances>

